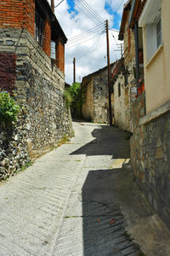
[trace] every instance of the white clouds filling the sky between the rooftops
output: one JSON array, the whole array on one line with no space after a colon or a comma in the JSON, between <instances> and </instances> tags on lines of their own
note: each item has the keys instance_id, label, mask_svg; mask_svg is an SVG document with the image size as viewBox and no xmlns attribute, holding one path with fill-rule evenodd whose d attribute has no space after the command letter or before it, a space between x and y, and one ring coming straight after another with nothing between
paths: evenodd
<instances>
[{"instance_id":1,"label":"white clouds filling the sky between the rooftops","mask_svg":"<svg viewBox=\"0 0 170 256\"><path fill-rule=\"evenodd\" d=\"M50 0L48 0L48 2L50 3ZM59 2L59 0L54 1L55 5L57 5ZM118 11L118 13L122 13L122 6L123 3L126 2L126 0L123 0L121 4L120 0L86 0L86 2L101 16L103 20L109 20L110 26L114 26L114 17L105 10L105 3L110 4L113 11ZM84 15L80 9L77 8L77 5L75 7L78 11L77 15L75 15L74 13L69 13L68 8L69 6L65 0L63 3L59 4L59 6L55 9L55 15L59 20L59 24L65 32L65 36L67 38L73 38L96 26L93 20L88 19L88 17ZM100 34L101 33L102 30L100 31ZM113 36L115 38L113 38ZM110 32L111 62L116 61L116 58L120 57L120 53L114 51L114 49L117 49L116 43L122 43L118 42L117 36L117 32ZM94 39L84 42L84 44L78 44L78 41L74 41L74 45L78 45L72 48L69 48L68 40L68 44L65 45L65 81L67 83L71 84L73 80L73 57L76 57L77 82L79 82L80 77L82 79L82 77L88 75L88 73L93 73L99 68L105 67L107 65L107 59L105 57L105 38L106 36L104 33L98 36L97 38L94 37ZM84 41L85 39L86 38L83 38ZM73 44L70 44L70 46L72 45ZM81 56L83 57L80 58Z\"/></svg>"}]
</instances>

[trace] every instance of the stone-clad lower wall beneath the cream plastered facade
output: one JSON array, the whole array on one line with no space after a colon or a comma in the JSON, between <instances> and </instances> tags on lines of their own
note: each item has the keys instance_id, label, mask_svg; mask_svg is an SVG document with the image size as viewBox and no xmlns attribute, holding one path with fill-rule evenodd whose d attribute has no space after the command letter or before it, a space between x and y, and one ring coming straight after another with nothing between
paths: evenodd
<instances>
[{"instance_id":1,"label":"stone-clad lower wall beneath the cream plastered facade","mask_svg":"<svg viewBox=\"0 0 170 256\"><path fill-rule=\"evenodd\" d=\"M144 125L144 93L133 103L131 162L134 177L150 205L170 228L170 113Z\"/></svg>"}]
</instances>

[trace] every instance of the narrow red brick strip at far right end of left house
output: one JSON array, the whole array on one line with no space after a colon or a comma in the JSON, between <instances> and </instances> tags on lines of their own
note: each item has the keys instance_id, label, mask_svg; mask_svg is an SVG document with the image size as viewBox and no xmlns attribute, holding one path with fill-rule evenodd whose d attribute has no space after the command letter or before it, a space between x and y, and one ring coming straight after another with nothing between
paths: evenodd
<instances>
[{"instance_id":1,"label":"narrow red brick strip at far right end of left house","mask_svg":"<svg viewBox=\"0 0 170 256\"><path fill-rule=\"evenodd\" d=\"M65 73L65 44L56 42L56 61L57 67Z\"/></svg>"}]
</instances>

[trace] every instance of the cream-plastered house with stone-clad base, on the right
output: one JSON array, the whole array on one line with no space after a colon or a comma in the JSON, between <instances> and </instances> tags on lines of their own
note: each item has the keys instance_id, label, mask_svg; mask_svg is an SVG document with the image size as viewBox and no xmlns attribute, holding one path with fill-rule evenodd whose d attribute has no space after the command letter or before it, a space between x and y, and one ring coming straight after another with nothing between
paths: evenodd
<instances>
[{"instance_id":1,"label":"cream-plastered house with stone-clad base, on the right","mask_svg":"<svg viewBox=\"0 0 170 256\"><path fill-rule=\"evenodd\" d=\"M166 0L133 0L129 26L142 27L144 42L145 93L133 102L133 173L150 205L170 228L169 11Z\"/></svg>"}]
</instances>

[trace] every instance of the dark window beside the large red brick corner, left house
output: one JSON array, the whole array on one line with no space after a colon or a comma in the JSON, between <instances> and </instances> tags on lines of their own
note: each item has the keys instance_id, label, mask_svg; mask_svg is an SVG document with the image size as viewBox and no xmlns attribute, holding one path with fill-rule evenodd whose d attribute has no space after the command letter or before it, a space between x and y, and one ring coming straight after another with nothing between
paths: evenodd
<instances>
[{"instance_id":1,"label":"dark window beside the large red brick corner, left house","mask_svg":"<svg viewBox=\"0 0 170 256\"><path fill-rule=\"evenodd\" d=\"M40 46L43 44L43 29L44 29L44 20L42 16L36 10L35 17L35 39Z\"/></svg>"}]
</instances>

